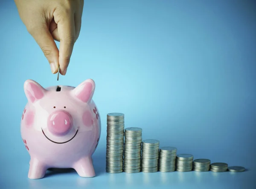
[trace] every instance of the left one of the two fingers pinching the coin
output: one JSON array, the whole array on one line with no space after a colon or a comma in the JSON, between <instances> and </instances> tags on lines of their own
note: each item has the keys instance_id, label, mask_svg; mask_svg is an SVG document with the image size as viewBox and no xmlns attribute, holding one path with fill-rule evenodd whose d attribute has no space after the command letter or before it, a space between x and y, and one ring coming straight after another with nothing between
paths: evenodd
<instances>
[{"instance_id":1,"label":"left one of the two fingers pinching the coin","mask_svg":"<svg viewBox=\"0 0 256 189\"><path fill-rule=\"evenodd\" d=\"M41 50L43 51L44 56L47 58L50 64L52 73L57 73L59 65L59 52L47 25L43 27L39 26L37 28L33 28L32 30L29 30L29 33L32 35L32 37L35 39L35 41L38 43Z\"/></svg>"}]
</instances>

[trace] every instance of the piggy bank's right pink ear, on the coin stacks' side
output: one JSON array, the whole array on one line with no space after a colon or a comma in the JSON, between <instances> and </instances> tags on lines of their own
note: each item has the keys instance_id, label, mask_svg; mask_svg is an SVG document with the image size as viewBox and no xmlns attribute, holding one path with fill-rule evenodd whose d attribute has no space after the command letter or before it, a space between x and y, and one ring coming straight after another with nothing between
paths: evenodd
<instances>
[{"instance_id":1,"label":"piggy bank's right pink ear, on the coin stacks' side","mask_svg":"<svg viewBox=\"0 0 256 189\"><path fill-rule=\"evenodd\" d=\"M92 79L85 80L72 90L73 95L84 103L90 102L93 98L95 83Z\"/></svg>"}]
</instances>

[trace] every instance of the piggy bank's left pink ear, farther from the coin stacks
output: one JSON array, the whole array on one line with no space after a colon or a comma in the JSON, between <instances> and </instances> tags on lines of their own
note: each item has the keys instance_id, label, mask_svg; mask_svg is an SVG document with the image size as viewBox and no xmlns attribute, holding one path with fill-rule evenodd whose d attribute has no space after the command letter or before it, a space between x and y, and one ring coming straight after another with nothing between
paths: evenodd
<instances>
[{"instance_id":1,"label":"piggy bank's left pink ear, farther from the coin stacks","mask_svg":"<svg viewBox=\"0 0 256 189\"><path fill-rule=\"evenodd\" d=\"M30 102L35 103L37 100L44 97L46 89L44 89L44 87L39 85L34 80L26 80L24 83L24 92L27 99Z\"/></svg>"}]
</instances>

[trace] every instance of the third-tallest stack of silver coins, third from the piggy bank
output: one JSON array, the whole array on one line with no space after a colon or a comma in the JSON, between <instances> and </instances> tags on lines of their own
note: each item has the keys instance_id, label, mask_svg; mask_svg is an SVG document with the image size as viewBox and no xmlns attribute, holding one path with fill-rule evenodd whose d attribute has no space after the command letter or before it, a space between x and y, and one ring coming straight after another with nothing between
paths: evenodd
<instances>
[{"instance_id":1,"label":"third-tallest stack of silver coins, third from the piggy bank","mask_svg":"<svg viewBox=\"0 0 256 189\"><path fill-rule=\"evenodd\" d=\"M141 155L142 172L158 171L159 145L159 140L143 140Z\"/></svg>"}]
</instances>

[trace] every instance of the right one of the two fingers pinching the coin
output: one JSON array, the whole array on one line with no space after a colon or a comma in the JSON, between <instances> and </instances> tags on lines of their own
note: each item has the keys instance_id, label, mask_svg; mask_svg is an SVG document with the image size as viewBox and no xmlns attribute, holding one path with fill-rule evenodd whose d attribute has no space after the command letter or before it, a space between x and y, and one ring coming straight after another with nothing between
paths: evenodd
<instances>
[{"instance_id":1,"label":"right one of the two fingers pinching the coin","mask_svg":"<svg viewBox=\"0 0 256 189\"><path fill-rule=\"evenodd\" d=\"M74 14L57 14L55 22L58 25L58 34L60 37L60 73L62 75L65 75L67 72L67 67L70 63L70 57L73 52L73 47L76 42Z\"/></svg>"}]
</instances>

